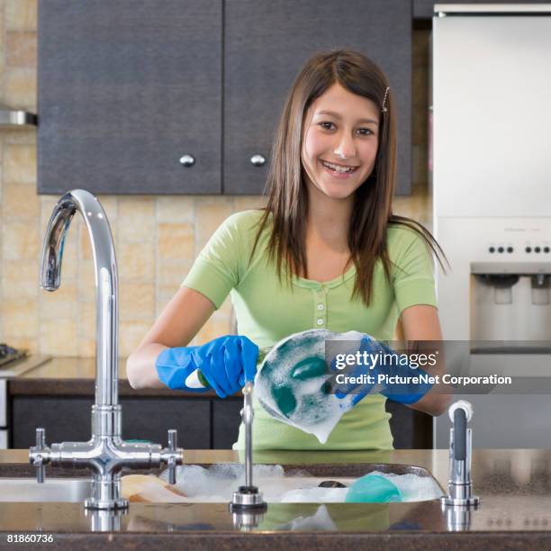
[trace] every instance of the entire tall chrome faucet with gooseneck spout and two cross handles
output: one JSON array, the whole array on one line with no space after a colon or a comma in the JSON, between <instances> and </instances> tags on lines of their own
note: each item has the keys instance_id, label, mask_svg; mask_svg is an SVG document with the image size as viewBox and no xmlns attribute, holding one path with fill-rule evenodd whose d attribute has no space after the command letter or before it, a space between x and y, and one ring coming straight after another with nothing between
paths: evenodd
<instances>
[{"instance_id":1,"label":"entire tall chrome faucet with gooseneck spout and two cross handles","mask_svg":"<svg viewBox=\"0 0 551 551\"><path fill-rule=\"evenodd\" d=\"M36 467L37 482L44 481L44 465L88 465L94 469L92 495L87 509L124 509L121 496L123 467L149 468L165 463L169 482L176 483L176 465L183 461L176 430L168 430L168 447L125 442L121 438L121 405L118 403L118 280L117 262L109 222L101 203L89 192L77 189L59 199L51 214L41 255L41 288L56 291L67 230L80 212L92 242L95 266L96 344L95 404L92 406L92 438L87 442L62 442L47 447L44 429L36 429L36 446L29 458Z\"/></svg>"}]
</instances>

